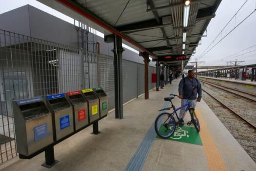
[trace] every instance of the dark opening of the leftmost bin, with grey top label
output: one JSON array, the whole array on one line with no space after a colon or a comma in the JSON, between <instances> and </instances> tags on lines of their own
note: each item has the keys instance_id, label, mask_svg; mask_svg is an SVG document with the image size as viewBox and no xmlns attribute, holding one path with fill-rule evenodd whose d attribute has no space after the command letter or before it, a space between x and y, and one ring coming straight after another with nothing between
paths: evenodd
<instances>
[{"instance_id":1,"label":"dark opening of the leftmost bin, with grey top label","mask_svg":"<svg viewBox=\"0 0 256 171\"><path fill-rule=\"evenodd\" d=\"M19 106L25 120L39 117L44 114L50 113L48 108L43 102L36 102Z\"/></svg>"}]
</instances>

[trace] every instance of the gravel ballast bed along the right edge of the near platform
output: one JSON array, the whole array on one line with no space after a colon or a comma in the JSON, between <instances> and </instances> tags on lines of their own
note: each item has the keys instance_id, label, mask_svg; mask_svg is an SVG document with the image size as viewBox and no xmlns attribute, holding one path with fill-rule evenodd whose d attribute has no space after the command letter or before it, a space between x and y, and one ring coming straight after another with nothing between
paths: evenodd
<instances>
[{"instance_id":1,"label":"gravel ballast bed along the right edge of the near platform","mask_svg":"<svg viewBox=\"0 0 256 171\"><path fill-rule=\"evenodd\" d=\"M249 116L250 121L256 119L256 105L245 102L241 102L242 99L237 100L238 98L234 95L227 94L226 92L222 93L221 90L216 88L211 88L210 85L202 83L203 89L212 94L222 103L228 103L228 107L232 107L234 111L239 111L241 115ZM237 142L244 148L244 150L252 157L256 162L256 131L252 127L248 126L245 121L241 120L238 116L233 114L228 109L222 107L215 99L210 97L208 94L203 92L203 100L206 104L213 110L219 120L223 125L230 131L230 133L236 138ZM243 104L240 104L243 103ZM248 108L248 109L247 109ZM253 110L254 108L254 110ZM249 110L249 111L248 111ZM242 113L243 112L243 113ZM254 118L253 118L254 116Z\"/></svg>"}]
</instances>

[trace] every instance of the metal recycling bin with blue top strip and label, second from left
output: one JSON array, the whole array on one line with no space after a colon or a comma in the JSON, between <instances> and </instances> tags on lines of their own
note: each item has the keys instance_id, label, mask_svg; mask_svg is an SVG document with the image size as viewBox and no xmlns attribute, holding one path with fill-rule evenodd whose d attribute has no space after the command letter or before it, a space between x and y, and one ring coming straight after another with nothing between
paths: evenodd
<instances>
[{"instance_id":1,"label":"metal recycling bin with blue top strip and label, second from left","mask_svg":"<svg viewBox=\"0 0 256 171\"><path fill-rule=\"evenodd\" d=\"M54 120L54 140L74 132L73 109L64 93L43 96Z\"/></svg>"}]
</instances>

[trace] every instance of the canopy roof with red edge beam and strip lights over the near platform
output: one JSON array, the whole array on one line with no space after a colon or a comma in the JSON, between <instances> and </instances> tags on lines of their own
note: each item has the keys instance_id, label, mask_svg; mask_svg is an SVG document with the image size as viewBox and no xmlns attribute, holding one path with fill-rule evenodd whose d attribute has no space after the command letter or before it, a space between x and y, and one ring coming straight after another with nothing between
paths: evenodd
<instances>
[{"instance_id":1,"label":"canopy roof with red edge beam and strip lights over the near platform","mask_svg":"<svg viewBox=\"0 0 256 171\"><path fill-rule=\"evenodd\" d=\"M221 0L38 0L104 35L116 34L123 43L164 63L185 65L195 51ZM188 13L187 25L184 16ZM186 18L186 17L185 17ZM186 20L185 20L186 21ZM186 39L183 35L186 33ZM184 45L183 45L184 44ZM182 47L183 46L183 47ZM170 58L171 57L171 58Z\"/></svg>"}]
</instances>

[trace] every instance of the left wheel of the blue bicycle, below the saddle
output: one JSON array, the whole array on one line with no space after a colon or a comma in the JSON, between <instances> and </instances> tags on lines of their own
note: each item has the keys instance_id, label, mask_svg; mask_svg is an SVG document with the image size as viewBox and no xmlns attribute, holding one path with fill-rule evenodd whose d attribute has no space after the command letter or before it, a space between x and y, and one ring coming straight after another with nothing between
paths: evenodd
<instances>
[{"instance_id":1,"label":"left wheel of the blue bicycle, below the saddle","mask_svg":"<svg viewBox=\"0 0 256 171\"><path fill-rule=\"evenodd\" d=\"M174 117L170 113L161 113L155 121L155 130L159 137L169 138L176 128Z\"/></svg>"}]
</instances>

